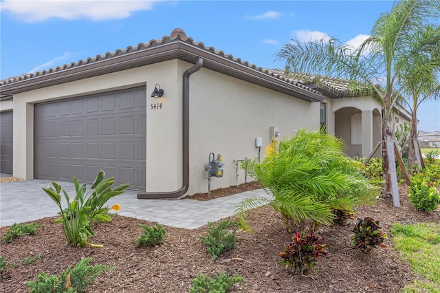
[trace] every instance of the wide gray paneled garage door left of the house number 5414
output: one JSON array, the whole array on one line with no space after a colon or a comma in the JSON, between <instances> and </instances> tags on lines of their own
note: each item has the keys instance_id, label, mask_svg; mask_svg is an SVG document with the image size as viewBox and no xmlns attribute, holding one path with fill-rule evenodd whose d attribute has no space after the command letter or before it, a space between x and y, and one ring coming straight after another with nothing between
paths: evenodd
<instances>
[{"instance_id":1,"label":"wide gray paneled garage door left of the house number 5414","mask_svg":"<svg viewBox=\"0 0 440 293\"><path fill-rule=\"evenodd\" d=\"M35 107L35 177L93 182L98 171L145 191L146 88Z\"/></svg>"}]
</instances>

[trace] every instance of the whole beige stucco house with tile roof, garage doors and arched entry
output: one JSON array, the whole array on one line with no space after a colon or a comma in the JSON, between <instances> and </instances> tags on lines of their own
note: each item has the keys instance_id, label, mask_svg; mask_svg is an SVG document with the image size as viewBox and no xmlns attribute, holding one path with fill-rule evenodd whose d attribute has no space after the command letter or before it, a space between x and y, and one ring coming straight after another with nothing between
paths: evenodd
<instances>
[{"instance_id":1,"label":"whole beige stucco house with tile roof, garage doors and arched entry","mask_svg":"<svg viewBox=\"0 0 440 293\"><path fill-rule=\"evenodd\" d=\"M151 95L157 89L164 93L158 98ZM348 155L367 156L380 140L377 101L326 96L180 29L1 80L0 92L1 172L92 182L102 169L116 184L130 183L138 198L208 191L206 164L217 155L223 171L210 189L243 183L241 160L263 158L278 134L289 138L322 122L351 142Z\"/></svg>"}]
</instances>

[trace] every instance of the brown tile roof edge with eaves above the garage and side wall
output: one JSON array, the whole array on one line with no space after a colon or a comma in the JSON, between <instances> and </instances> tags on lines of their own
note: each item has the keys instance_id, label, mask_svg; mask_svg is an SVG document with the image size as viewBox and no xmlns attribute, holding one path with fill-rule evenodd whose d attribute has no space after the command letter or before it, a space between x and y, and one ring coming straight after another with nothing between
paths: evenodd
<instances>
[{"instance_id":1,"label":"brown tile roof edge with eaves above the garage and side wall","mask_svg":"<svg viewBox=\"0 0 440 293\"><path fill-rule=\"evenodd\" d=\"M12 98L12 95L23 91L109 74L175 58L195 63L197 57L203 58L203 67L216 72L290 96L296 96L309 102L323 100L320 91L311 89L294 80L275 76L261 67L241 61L240 58L234 58L234 56L215 50L213 47L206 47L203 43L188 38L181 29L173 30L170 36L164 36L160 40L151 40L148 43L140 43L135 47L130 46L124 50L107 52L104 55L97 55L93 58L41 72L0 80L0 99L7 100Z\"/></svg>"}]
</instances>

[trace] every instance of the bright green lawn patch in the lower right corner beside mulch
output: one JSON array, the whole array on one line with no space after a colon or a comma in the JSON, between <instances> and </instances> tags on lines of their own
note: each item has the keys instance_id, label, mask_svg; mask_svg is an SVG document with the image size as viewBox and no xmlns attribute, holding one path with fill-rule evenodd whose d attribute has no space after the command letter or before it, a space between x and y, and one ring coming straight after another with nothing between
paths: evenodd
<instances>
[{"instance_id":1,"label":"bright green lawn patch in the lower right corner beside mulch","mask_svg":"<svg viewBox=\"0 0 440 293\"><path fill-rule=\"evenodd\" d=\"M419 281L402 292L440 292L440 224L419 223L391 228L393 246L408 261Z\"/></svg>"}]
</instances>

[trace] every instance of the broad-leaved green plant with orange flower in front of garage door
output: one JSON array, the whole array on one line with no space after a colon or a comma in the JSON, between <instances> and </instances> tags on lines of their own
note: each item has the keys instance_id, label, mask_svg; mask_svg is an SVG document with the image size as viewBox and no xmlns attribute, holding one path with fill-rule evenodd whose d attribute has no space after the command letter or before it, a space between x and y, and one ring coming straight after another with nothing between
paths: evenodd
<instances>
[{"instance_id":1,"label":"broad-leaved green plant with orange flower in front of garage door","mask_svg":"<svg viewBox=\"0 0 440 293\"><path fill-rule=\"evenodd\" d=\"M88 242L89 237L95 235L91 230L91 223L95 220L111 220L111 217L105 213L108 211L108 208L102 208L102 206L111 197L124 193L124 189L130 186L130 184L122 184L112 189L111 186L115 183L114 177L109 177L105 180L104 177L104 171L100 171L89 191L87 191L86 184L80 185L76 177L74 177L76 195L72 202L64 188L56 182L52 182L54 188L51 186L42 188L60 208L61 218L57 222L63 223L63 231L67 243L80 247L85 247L87 243L90 244ZM61 206L61 191L63 191L67 202L67 208L65 209ZM112 208L118 210L120 206L115 204Z\"/></svg>"}]
</instances>

